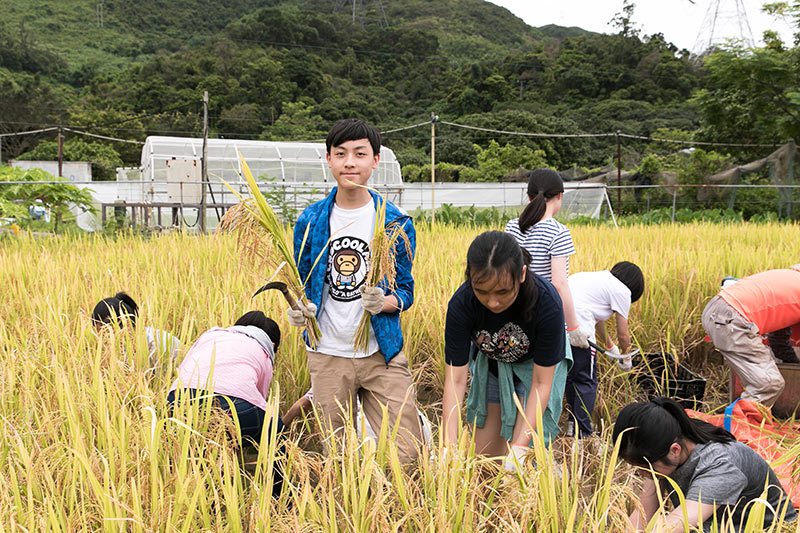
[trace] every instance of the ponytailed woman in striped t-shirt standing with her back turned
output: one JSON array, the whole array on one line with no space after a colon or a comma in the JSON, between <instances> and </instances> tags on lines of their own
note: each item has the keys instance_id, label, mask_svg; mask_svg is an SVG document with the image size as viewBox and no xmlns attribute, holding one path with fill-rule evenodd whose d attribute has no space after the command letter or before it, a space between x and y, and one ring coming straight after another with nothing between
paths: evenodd
<instances>
[{"instance_id":1,"label":"ponytailed woman in striped t-shirt standing with her back turned","mask_svg":"<svg viewBox=\"0 0 800 533\"><path fill-rule=\"evenodd\" d=\"M531 272L550 281L558 291L564 306L569 343L589 348L591 332L578 324L572 293L569 291L569 256L575 253L572 236L567 227L553 218L561 209L564 181L549 168L528 172L528 199L519 218L506 224L506 232L531 254Z\"/></svg>"}]
</instances>

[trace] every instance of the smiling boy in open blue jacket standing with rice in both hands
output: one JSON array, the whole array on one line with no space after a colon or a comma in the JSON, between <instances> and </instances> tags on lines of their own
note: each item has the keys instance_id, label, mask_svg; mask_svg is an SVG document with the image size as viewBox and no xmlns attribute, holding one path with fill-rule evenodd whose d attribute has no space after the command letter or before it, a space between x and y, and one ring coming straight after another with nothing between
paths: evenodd
<instances>
[{"instance_id":1,"label":"smiling boy in open blue jacket standing with rice in both hands","mask_svg":"<svg viewBox=\"0 0 800 533\"><path fill-rule=\"evenodd\" d=\"M294 254L300 277L306 279L311 273L305 287L309 304L300 311L290 308L286 315L289 324L296 327L305 326L305 317L316 316L319 322L319 344L316 350L306 349L314 404L328 429L340 431L345 415L354 419L356 395L373 428L381 427L381 406L386 406L389 430L400 421L396 442L400 459L411 462L418 454L421 429L411 370L403 353L400 313L414 302L414 224L405 211L386 202L386 227L395 223L402 226L412 257L405 241L398 239L394 289L390 291L385 280L377 287L368 287L369 247L378 196L362 186L378 166L380 132L362 120L346 119L331 128L325 144L337 187L327 198L306 208L295 225ZM357 350L353 342L365 311L372 315L366 352Z\"/></svg>"}]
</instances>

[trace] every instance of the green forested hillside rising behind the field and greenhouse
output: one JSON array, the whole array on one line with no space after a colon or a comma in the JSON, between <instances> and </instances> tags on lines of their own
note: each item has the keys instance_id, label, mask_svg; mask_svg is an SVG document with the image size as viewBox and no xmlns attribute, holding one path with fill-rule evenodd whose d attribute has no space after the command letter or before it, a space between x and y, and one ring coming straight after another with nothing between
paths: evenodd
<instances>
[{"instance_id":1,"label":"green forested hillside rising behind the field and greenhouse","mask_svg":"<svg viewBox=\"0 0 800 533\"><path fill-rule=\"evenodd\" d=\"M731 77L741 81L737 69L751 61L749 52L721 51L703 65L627 22L611 35L537 29L482 0L384 0L383 10L358 11L355 19L350 6L334 13L342 4L334 0L0 4L0 132L65 125L138 140L199 135L203 91L212 136L239 138L320 138L348 116L390 129L431 112L502 130L735 142L779 142L798 129L796 48L775 40L759 50L760 65L745 69L748 77L772 73L767 94L750 78L730 87ZM770 121L769 111L730 127L726 113L747 116L754 102L760 113L782 109L784 119ZM405 166L429 162L424 128L385 140ZM2 149L4 160L52 157L55 144L52 135L6 137ZM636 148L632 164L645 151ZM114 166L139 159L134 145L72 137L65 153L100 161L109 177ZM593 168L615 148L607 138L451 128L436 153L437 162L472 169L465 176L495 179L482 161Z\"/></svg>"}]
</instances>

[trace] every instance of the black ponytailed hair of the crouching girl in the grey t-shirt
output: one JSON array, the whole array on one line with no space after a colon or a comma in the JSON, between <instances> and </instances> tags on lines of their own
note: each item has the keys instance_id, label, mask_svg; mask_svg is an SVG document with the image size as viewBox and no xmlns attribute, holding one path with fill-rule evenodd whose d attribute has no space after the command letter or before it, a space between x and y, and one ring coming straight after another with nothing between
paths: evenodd
<instances>
[{"instance_id":1,"label":"black ponytailed hair of the crouching girl in the grey t-shirt","mask_svg":"<svg viewBox=\"0 0 800 533\"><path fill-rule=\"evenodd\" d=\"M665 397L623 407L614 423L614 442L620 435L620 457L639 466L662 459L682 438L697 444L736 440L720 427L689 418L678 402Z\"/></svg>"}]
</instances>

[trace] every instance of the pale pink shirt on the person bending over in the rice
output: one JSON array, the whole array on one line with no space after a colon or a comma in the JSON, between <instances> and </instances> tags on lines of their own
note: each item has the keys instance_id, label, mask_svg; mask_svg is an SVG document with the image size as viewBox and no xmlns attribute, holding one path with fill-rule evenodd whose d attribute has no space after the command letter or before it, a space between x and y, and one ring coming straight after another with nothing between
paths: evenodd
<instances>
[{"instance_id":1,"label":"pale pink shirt on the person bending over in the rice","mask_svg":"<svg viewBox=\"0 0 800 533\"><path fill-rule=\"evenodd\" d=\"M243 333L213 328L186 353L170 391L178 386L210 390L241 398L266 411L271 381L272 361L258 341Z\"/></svg>"}]
</instances>

